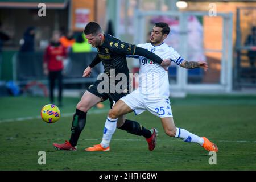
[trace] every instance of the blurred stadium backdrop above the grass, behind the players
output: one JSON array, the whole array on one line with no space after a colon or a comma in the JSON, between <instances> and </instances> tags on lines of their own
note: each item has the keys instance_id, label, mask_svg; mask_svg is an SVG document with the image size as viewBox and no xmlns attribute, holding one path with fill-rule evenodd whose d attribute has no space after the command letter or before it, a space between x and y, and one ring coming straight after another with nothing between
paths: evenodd
<instances>
[{"instance_id":1,"label":"blurred stadium backdrop above the grass, behind the players","mask_svg":"<svg viewBox=\"0 0 256 182\"><path fill-rule=\"evenodd\" d=\"M10 36L9 40L2 41L0 95L6 94L4 88L9 80L21 88L33 80L47 84L42 55L52 32L65 35L72 31L75 38L91 20L100 23L105 32L134 44L147 41L155 22L170 24L171 34L166 43L185 59L204 60L210 67L209 72L204 73L200 69L186 71L172 65L169 72L170 89L175 90L172 94L181 91L183 94L242 93L252 89L254 92L256 30L251 30L255 27L255 2L185 2L187 7L179 9L175 0L44 1L46 16L39 17L40 1L0 1L1 30ZM36 28L35 51L19 52L23 33L31 26ZM71 53L64 81L67 92L71 88L83 90L86 83L92 82L91 78L81 79L81 73L94 55L94 49L82 55ZM84 56L85 59L81 59ZM137 60L129 59L128 64L131 72L138 71Z\"/></svg>"}]
</instances>

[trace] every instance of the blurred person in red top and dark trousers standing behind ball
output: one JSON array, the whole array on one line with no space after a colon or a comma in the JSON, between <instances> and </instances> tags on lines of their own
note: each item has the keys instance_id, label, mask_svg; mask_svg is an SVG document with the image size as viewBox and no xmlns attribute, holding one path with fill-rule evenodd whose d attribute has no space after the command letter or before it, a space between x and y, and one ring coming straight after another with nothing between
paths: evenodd
<instances>
[{"instance_id":1,"label":"blurred person in red top and dark trousers standing behind ball","mask_svg":"<svg viewBox=\"0 0 256 182\"><path fill-rule=\"evenodd\" d=\"M49 98L54 103L53 90L55 80L58 80L58 101L59 107L62 106L62 90L63 90L63 60L67 57L67 49L60 43L60 33L54 32L51 43L44 53L43 68L44 74L49 78Z\"/></svg>"}]
</instances>

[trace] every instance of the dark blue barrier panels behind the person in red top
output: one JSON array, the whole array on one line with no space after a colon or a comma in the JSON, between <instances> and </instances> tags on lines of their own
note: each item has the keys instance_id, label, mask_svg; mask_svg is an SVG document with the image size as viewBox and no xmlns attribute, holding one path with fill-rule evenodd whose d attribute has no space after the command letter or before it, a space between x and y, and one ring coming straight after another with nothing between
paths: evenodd
<instances>
[{"instance_id":1,"label":"dark blue barrier panels behind the person in red top","mask_svg":"<svg viewBox=\"0 0 256 182\"><path fill-rule=\"evenodd\" d=\"M63 83L90 83L97 79L102 73L102 64L93 68L89 78L83 78L84 69L92 62L97 52L69 53L67 63L63 70ZM48 82L47 76L43 73L43 52L18 52L13 56L13 79L18 84L27 84L31 81L39 81L44 84Z\"/></svg>"}]
</instances>

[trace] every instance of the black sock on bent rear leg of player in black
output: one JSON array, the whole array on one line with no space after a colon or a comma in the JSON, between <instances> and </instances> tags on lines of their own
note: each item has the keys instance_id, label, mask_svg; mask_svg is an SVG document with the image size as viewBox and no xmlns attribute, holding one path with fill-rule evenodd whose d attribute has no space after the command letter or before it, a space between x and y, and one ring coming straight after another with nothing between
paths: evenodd
<instances>
[{"instance_id":1,"label":"black sock on bent rear leg of player in black","mask_svg":"<svg viewBox=\"0 0 256 182\"><path fill-rule=\"evenodd\" d=\"M145 129L142 125L140 125L137 121L131 121L128 119L125 119L125 123L121 127L119 127L121 130L125 130L128 133L143 136L145 138L151 137L151 131L148 129Z\"/></svg>"}]
</instances>

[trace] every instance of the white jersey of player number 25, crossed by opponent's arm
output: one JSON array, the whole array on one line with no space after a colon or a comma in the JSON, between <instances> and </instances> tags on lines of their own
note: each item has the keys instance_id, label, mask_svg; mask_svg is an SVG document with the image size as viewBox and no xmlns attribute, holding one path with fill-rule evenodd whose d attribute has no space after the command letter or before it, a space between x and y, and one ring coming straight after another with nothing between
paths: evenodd
<instances>
[{"instance_id":1,"label":"white jersey of player number 25, crossed by opponent's arm","mask_svg":"<svg viewBox=\"0 0 256 182\"><path fill-rule=\"evenodd\" d=\"M153 46L151 43L138 44L138 47L154 52L164 59L170 59L177 65L180 65L183 58L172 47L166 43L159 46ZM169 98L169 78L168 72L164 68L146 57L139 56L139 91L143 95L151 98Z\"/></svg>"}]
</instances>

